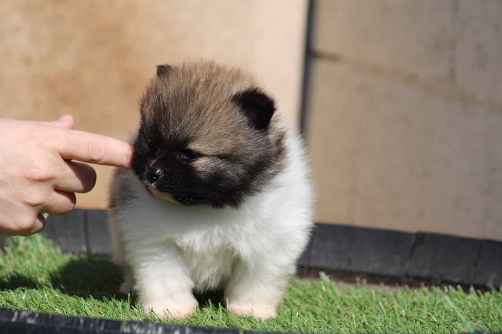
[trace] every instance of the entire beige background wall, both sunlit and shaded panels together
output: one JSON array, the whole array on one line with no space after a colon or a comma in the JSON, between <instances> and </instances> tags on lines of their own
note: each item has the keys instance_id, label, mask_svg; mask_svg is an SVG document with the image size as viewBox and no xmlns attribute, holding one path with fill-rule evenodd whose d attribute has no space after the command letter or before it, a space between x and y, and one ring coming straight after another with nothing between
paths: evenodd
<instances>
[{"instance_id":1,"label":"entire beige background wall, both sunlit and shaded panels together","mask_svg":"<svg viewBox=\"0 0 502 334\"><path fill-rule=\"evenodd\" d=\"M253 71L305 135L316 220L502 240L502 2L0 2L1 116L127 139L155 66ZM79 195L106 205L111 168Z\"/></svg>"}]
</instances>

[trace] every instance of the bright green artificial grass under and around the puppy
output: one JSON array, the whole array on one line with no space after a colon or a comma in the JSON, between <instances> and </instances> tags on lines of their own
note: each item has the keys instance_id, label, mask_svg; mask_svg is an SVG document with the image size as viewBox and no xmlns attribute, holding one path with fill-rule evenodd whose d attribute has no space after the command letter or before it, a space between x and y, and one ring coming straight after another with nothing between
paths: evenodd
<instances>
[{"instance_id":1,"label":"bright green artificial grass under and around the puppy","mask_svg":"<svg viewBox=\"0 0 502 334\"><path fill-rule=\"evenodd\" d=\"M160 322L145 316L130 296L117 293L120 282L112 263L62 254L41 235L9 238L0 253L0 306ZM275 319L237 317L208 302L193 317L173 323L289 332L500 331L502 291L342 288L321 275L314 281L293 279Z\"/></svg>"}]
</instances>

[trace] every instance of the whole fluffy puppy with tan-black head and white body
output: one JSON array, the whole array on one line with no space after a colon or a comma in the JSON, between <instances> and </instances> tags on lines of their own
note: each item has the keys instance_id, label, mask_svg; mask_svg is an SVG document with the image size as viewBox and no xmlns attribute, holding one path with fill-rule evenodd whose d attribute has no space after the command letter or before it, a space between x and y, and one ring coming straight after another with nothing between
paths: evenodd
<instances>
[{"instance_id":1,"label":"whole fluffy puppy with tan-black head and white body","mask_svg":"<svg viewBox=\"0 0 502 334\"><path fill-rule=\"evenodd\" d=\"M207 61L158 66L140 113L110 186L121 291L168 318L213 289L231 313L276 316L312 227L299 134L250 75Z\"/></svg>"}]
</instances>

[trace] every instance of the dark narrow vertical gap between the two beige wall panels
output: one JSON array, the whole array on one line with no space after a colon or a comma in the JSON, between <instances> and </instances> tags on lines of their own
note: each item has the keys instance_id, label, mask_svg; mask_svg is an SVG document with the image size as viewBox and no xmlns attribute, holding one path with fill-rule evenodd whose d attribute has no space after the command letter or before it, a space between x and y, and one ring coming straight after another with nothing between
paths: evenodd
<instances>
[{"instance_id":1,"label":"dark narrow vertical gap between the two beige wall panels","mask_svg":"<svg viewBox=\"0 0 502 334\"><path fill-rule=\"evenodd\" d=\"M309 86L310 86L310 48L312 40L312 27L315 0L307 1L307 22L305 30L304 52L303 52L303 75L301 87L301 102L300 102L300 131L305 134L307 114L308 114L308 100L309 100Z\"/></svg>"}]
</instances>

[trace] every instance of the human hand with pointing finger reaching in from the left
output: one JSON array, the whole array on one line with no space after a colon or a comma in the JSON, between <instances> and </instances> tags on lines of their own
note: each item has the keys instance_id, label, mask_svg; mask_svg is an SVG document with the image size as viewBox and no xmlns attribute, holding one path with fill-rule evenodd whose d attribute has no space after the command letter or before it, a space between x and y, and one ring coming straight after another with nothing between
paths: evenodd
<instances>
[{"instance_id":1,"label":"human hand with pointing finger reaching in from the left","mask_svg":"<svg viewBox=\"0 0 502 334\"><path fill-rule=\"evenodd\" d=\"M55 122L0 119L0 235L39 232L41 212L75 207L75 193L90 191L96 172L73 160L130 168L132 145L73 125L69 115Z\"/></svg>"}]
</instances>

